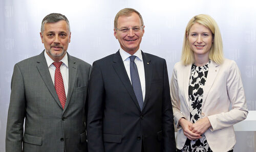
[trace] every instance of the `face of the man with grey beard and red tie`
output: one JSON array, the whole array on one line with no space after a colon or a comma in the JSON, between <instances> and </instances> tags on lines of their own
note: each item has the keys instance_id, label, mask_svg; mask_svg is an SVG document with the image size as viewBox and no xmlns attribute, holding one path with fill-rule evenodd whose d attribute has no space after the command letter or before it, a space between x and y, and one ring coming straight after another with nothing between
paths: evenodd
<instances>
[{"instance_id":1,"label":"face of the man with grey beard and red tie","mask_svg":"<svg viewBox=\"0 0 256 152\"><path fill-rule=\"evenodd\" d=\"M65 20L56 23L46 23L44 32L40 32L46 53L54 60L61 60L68 49L71 32Z\"/></svg>"}]
</instances>

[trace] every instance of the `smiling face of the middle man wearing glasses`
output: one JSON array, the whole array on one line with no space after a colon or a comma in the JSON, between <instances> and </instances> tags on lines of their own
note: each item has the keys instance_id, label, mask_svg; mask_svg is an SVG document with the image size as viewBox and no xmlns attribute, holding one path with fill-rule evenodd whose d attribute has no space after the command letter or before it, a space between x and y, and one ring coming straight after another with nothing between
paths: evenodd
<instances>
[{"instance_id":1,"label":"smiling face of the middle man wearing glasses","mask_svg":"<svg viewBox=\"0 0 256 152\"><path fill-rule=\"evenodd\" d=\"M117 19L117 29L129 29L127 33L114 29L114 36L118 39L120 47L127 53L133 55L140 47L140 42L144 34L144 26L137 13L130 16L119 16ZM132 28L140 28L134 31Z\"/></svg>"}]
</instances>

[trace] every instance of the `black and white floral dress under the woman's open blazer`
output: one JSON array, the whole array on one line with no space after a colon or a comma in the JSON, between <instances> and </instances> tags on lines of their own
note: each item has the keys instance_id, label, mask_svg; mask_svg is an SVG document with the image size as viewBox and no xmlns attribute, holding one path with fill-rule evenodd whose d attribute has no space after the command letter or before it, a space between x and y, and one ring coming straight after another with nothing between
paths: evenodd
<instances>
[{"instance_id":1,"label":"black and white floral dress under the woman's open blazer","mask_svg":"<svg viewBox=\"0 0 256 152\"><path fill-rule=\"evenodd\" d=\"M195 64L191 67L191 73L188 85L188 99L190 110L190 122L195 123L202 119L202 102L203 102L203 85L208 74L210 61L202 67L197 67ZM204 134L202 138L197 140L186 140L186 143L181 151L183 152L212 152Z\"/></svg>"}]
</instances>

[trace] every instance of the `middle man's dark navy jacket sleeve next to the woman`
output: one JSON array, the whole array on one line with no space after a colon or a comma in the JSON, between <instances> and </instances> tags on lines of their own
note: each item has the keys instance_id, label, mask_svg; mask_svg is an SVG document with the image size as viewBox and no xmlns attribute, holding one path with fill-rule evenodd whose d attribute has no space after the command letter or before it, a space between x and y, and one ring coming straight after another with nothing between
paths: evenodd
<instances>
[{"instance_id":1,"label":"middle man's dark navy jacket sleeve next to the woman","mask_svg":"<svg viewBox=\"0 0 256 152\"><path fill-rule=\"evenodd\" d=\"M163 124L163 151L176 151L174 119L172 102L170 101L170 89L166 62L163 67L163 105L162 105L162 124Z\"/></svg>"}]
</instances>

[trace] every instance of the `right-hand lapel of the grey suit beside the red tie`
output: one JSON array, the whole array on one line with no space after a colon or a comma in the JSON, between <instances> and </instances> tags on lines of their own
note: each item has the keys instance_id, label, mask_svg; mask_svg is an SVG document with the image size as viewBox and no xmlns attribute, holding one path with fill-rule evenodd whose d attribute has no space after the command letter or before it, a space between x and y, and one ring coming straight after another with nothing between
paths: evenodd
<instances>
[{"instance_id":1,"label":"right-hand lapel of the grey suit beside the red tie","mask_svg":"<svg viewBox=\"0 0 256 152\"><path fill-rule=\"evenodd\" d=\"M74 91L74 86L75 86L75 81L76 81L76 75L77 75L77 65L76 62L74 60L72 60L72 58L70 57L70 55L68 54L68 61L69 61L69 90L68 90L68 95L67 95L67 100L66 100L66 104L64 107L64 112L66 111L70 99L71 99L71 95Z\"/></svg>"}]
</instances>

